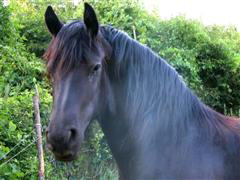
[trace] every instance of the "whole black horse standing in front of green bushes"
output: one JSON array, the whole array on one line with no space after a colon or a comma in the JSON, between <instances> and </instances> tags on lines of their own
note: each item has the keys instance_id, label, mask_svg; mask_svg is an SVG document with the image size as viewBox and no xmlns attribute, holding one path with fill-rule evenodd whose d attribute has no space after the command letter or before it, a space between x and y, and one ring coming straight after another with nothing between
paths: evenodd
<instances>
[{"instance_id":1,"label":"whole black horse standing in front of green bushes","mask_svg":"<svg viewBox=\"0 0 240 180\"><path fill-rule=\"evenodd\" d=\"M44 58L53 84L47 142L71 161L97 119L120 179L240 179L240 123L204 105L163 59L126 33L84 21L62 24L49 6Z\"/></svg>"}]
</instances>

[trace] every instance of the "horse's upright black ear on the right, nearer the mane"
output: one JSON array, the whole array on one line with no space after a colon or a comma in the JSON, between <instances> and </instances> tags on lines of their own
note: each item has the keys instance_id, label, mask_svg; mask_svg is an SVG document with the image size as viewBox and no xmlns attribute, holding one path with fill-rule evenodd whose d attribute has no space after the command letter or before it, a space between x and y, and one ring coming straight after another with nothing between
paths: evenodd
<instances>
[{"instance_id":1,"label":"horse's upright black ear on the right, nearer the mane","mask_svg":"<svg viewBox=\"0 0 240 180\"><path fill-rule=\"evenodd\" d=\"M87 31L91 35L92 38L95 38L98 34L98 20L96 13L92 6L90 6L88 3L84 3L84 24L87 27Z\"/></svg>"}]
</instances>

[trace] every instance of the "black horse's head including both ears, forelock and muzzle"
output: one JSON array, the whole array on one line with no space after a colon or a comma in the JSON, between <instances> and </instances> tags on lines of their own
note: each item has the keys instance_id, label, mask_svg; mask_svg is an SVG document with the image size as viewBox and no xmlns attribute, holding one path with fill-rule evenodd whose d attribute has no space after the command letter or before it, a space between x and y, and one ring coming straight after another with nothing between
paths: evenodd
<instances>
[{"instance_id":1,"label":"black horse's head including both ears, forelock and muzzle","mask_svg":"<svg viewBox=\"0 0 240 180\"><path fill-rule=\"evenodd\" d=\"M111 47L85 3L84 22L63 25L49 6L45 13L52 42L44 57L53 84L53 108L46 133L56 158L73 160L84 132L97 113L104 61Z\"/></svg>"}]
</instances>

